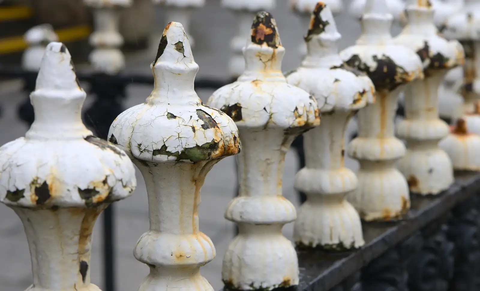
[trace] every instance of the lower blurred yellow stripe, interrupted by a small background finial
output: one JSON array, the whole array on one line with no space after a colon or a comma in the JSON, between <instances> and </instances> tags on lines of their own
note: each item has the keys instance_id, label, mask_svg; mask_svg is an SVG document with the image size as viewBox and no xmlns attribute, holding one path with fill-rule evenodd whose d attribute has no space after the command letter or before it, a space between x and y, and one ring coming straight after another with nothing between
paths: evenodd
<instances>
[{"instance_id":1,"label":"lower blurred yellow stripe, interrupted by a small background finial","mask_svg":"<svg viewBox=\"0 0 480 291\"><path fill-rule=\"evenodd\" d=\"M59 36L59 41L68 43L86 38L90 35L92 29L87 25L72 26L69 28L58 29L55 33ZM27 48L24 36L12 36L0 39L0 55L23 51Z\"/></svg>"}]
</instances>

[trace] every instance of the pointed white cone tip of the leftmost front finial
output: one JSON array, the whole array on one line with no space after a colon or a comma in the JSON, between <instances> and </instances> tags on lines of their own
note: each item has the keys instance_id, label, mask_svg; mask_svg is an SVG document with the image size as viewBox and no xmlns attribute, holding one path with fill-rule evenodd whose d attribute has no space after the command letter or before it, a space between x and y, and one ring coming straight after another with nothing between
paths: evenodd
<instances>
[{"instance_id":1,"label":"pointed white cone tip of the leftmost front finial","mask_svg":"<svg viewBox=\"0 0 480 291\"><path fill-rule=\"evenodd\" d=\"M72 56L64 44L51 42L47 45L36 78L35 90L39 89L81 90Z\"/></svg>"}]
</instances>

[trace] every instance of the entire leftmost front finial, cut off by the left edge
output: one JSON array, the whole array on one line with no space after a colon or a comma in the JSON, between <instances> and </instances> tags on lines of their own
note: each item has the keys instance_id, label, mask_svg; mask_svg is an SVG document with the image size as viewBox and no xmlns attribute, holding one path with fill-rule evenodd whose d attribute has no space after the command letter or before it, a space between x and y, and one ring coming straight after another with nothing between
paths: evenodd
<instances>
[{"instance_id":1,"label":"entire leftmost front finial, cut off by the left edge","mask_svg":"<svg viewBox=\"0 0 480 291\"><path fill-rule=\"evenodd\" d=\"M82 123L85 96L70 53L50 43L30 95L35 121L25 137L0 147L0 201L24 224L28 291L100 291L90 283L92 229L108 204L136 186L127 155Z\"/></svg>"}]
</instances>

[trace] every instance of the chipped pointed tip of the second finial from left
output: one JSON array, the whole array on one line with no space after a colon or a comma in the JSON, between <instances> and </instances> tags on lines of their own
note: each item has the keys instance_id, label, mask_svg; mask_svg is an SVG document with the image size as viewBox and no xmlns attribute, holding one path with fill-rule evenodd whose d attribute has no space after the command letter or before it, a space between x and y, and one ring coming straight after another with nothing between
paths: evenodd
<instances>
[{"instance_id":1,"label":"chipped pointed tip of the second finial from left","mask_svg":"<svg viewBox=\"0 0 480 291\"><path fill-rule=\"evenodd\" d=\"M173 45L172 49L181 53L184 57L188 57L185 55L185 46L188 45L190 47L190 43L187 33L180 22L168 22L167 26L165 26L153 64L156 64L158 58L164 54L169 43Z\"/></svg>"}]
</instances>

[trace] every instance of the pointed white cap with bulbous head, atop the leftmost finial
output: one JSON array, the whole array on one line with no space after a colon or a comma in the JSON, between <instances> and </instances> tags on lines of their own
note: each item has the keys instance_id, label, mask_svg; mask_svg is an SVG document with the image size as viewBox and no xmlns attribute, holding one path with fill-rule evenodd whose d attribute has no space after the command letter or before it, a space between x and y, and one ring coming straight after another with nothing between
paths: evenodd
<instances>
[{"instance_id":1,"label":"pointed white cap with bulbous head, atop the leftmost finial","mask_svg":"<svg viewBox=\"0 0 480 291\"><path fill-rule=\"evenodd\" d=\"M0 147L0 201L31 208L92 207L132 193L130 159L82 123L85 92L65 45L47 46L30 98L32 127Z\"/></svg>"}]
</instances>

